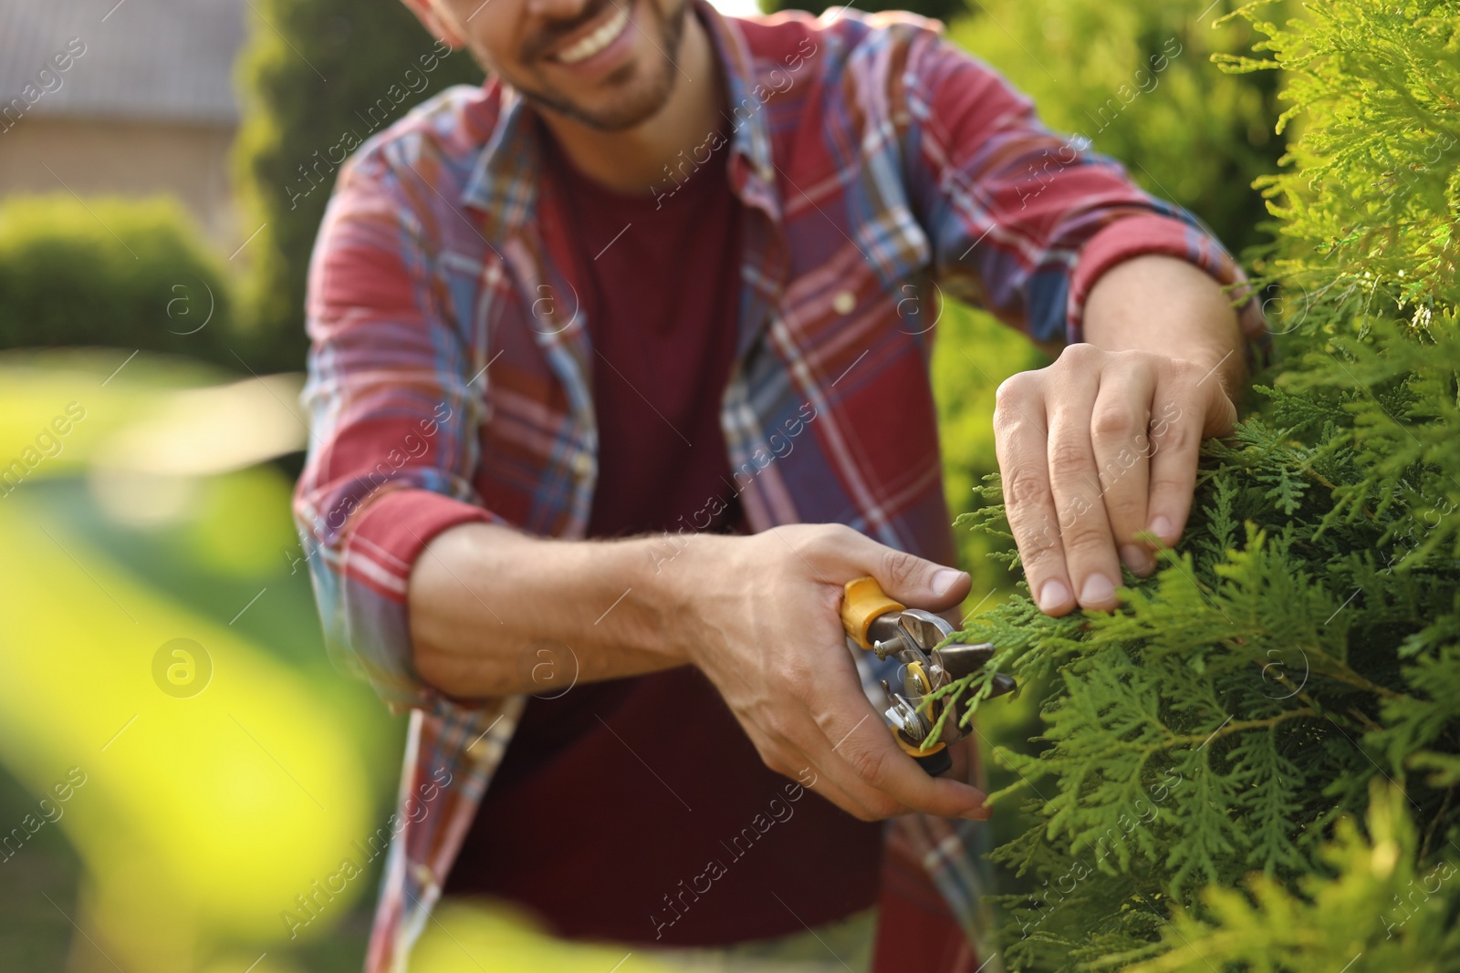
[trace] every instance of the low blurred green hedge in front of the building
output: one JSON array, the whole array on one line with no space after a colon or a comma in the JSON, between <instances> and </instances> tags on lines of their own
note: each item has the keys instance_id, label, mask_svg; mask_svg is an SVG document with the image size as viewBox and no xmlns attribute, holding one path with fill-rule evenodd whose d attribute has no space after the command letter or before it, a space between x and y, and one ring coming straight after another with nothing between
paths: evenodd
<instances>
[{"instance_id":1,"label":"low blurred green hedge in front of the building","mask_svg":"<svg viewBox=\"0 0 1460 973\"><path fill-rule=\"evenodd\" d=\"M0 206L0 347L104 344L232 363L229 283L171 200Z\"/></svg>"}]
</instances>

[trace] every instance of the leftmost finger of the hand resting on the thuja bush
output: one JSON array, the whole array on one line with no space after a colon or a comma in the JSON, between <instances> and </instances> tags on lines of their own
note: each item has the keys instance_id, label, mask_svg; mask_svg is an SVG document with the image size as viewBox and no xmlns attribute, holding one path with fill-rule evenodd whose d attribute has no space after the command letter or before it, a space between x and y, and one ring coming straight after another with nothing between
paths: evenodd
<instances>
[{"instance_id":1,"label":"leftmost finger of the hand resting on the thuja bush","mask_svg":"<svg viewBox=\"0 0 1460 973\"><path fill-rule=\"evenodd\" d=\"M994 452L1003 480L1004 513L1019 547L1029 592L1040 610L1058 616L1075 607L1064 569L1058 512L1050 493L1044 388L1038 372L1015 375L994 395Z\"/></svg>"}]
</instances>

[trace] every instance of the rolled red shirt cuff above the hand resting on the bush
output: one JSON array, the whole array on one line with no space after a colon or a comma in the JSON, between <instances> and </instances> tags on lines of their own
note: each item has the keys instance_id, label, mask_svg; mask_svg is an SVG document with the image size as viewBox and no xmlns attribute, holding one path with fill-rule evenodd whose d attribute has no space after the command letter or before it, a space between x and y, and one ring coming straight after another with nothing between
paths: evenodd
<instances>
[{"instance_id":1,"label":"rolled red shirt cuff above the hand resting on the bush","mask_svg":"<svg viewBox=\"0 0 1460 973\"><path fill-rule=\"evenodd\" d=\"M1266 365L1272 357L1272 334L1247 274L1213 236L1197 226L1169 216L1140 214L1115 220L1080 249L1070 280L1069 341L1085 340L1085 301L1101 274L1118 263L1146 254L1161 254L1200 267L1237 305L1237 319L1242 330L1248 368Z\"/></svg>"}]
</instances>

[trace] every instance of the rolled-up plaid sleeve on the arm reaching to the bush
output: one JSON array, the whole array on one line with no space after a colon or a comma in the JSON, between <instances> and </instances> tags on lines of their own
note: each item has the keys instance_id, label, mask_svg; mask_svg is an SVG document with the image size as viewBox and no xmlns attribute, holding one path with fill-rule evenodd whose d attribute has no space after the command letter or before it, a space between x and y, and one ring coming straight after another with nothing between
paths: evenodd
<instances>
[{"instance_id":1,"label":"rolled-up plaid sleeve on the arm reaching to the bush","mask_svg":"<svg viewBox=\"0 0 1460 973\"><path fill-rule=\"evenodd\" d=\"M911 41L899 83L904 159L948 293L1035 340L1075 343L1095 280L1123 260L1164 254L1228 287L1250 354L1266 354L1242 270L1191 213L1048 130L1026 96L933 31Z\"/></svg>"}]
</instances>

